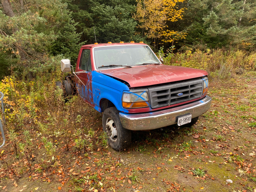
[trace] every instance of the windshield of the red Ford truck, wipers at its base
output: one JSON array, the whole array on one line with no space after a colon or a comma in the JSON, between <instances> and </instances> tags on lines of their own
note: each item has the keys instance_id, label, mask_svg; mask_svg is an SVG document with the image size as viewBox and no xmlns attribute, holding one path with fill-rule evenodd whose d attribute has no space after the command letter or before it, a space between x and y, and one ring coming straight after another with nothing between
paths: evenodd
<instances>
[{"instance_id":1,"label":"windshield of the red Ford truck, wipers at its base","mask_svg":"<svg viewBox=\"0 0 256 192\"><path fill-rule=\"evenodd\" d=\"M94 48L94 61L97 70L103 67L161 63L146 45L97 47Z\"/></svg>"}]
</instances>

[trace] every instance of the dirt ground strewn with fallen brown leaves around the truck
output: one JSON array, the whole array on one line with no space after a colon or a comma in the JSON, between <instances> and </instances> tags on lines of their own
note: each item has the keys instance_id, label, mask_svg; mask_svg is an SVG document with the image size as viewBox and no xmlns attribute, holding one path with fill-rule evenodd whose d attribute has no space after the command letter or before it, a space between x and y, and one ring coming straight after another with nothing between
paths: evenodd
<instances>
[{"instance_id":1,"label":"dirt ground strewn with fallen brown leaves around the truck","mask_svg":"<svg viewBox=\"0 0 256 192\"><path fill-rule=\"evenodd\" d=\"M90 109L85 116L95 140L86 152L74 150L75 140L66 151L57 138L56 160L43 162L46 148L34 137L30 160L17 159L7 141L1 153L0 189L256 192L256 77L236 76L209 84L212 106L196 125L133 132L132 145L121 152L97 140L102 116Z\"/></svg>"}]
</instances>

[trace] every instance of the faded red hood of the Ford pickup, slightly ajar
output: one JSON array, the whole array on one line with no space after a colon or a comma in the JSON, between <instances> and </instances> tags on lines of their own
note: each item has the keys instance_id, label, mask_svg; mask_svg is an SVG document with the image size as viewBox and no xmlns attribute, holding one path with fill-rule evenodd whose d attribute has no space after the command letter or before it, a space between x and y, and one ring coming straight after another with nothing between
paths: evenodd
<instances>
[{"instance_id":1,"label":"faded red hood of the Ford pickup, slightly ajar","mask_svg":"<svg viewBox=\"0 0 256 192\"><path fill-rule=\"evenodd\" d=\"M101 73L124 80L131 87L162 84L208 75L206 71L200 69L163 64L102 70Z\"/></svg>"}]
</instances>

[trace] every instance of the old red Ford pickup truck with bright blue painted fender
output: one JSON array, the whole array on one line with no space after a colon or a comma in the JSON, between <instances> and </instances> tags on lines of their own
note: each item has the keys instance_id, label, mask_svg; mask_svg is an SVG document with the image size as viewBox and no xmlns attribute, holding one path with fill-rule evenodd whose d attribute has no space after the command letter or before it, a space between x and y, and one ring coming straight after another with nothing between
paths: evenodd
<instances>
[{"instance_id":1,"label":"old red Ford pickup truck with bright blue painted fender","mask_svg":"<svg viewBox=\"0 0 256 192\"><path fill-rule=\"evenodd\" d=\"M70 60L61 60L70 72ZM162 64L140 43L90 44L81 47L76 69L63 81L98 112L108 143L115 150L130 145L131 130L177 124L192 126L211 104L204 70Z\"/></svg>"}]
</instances>

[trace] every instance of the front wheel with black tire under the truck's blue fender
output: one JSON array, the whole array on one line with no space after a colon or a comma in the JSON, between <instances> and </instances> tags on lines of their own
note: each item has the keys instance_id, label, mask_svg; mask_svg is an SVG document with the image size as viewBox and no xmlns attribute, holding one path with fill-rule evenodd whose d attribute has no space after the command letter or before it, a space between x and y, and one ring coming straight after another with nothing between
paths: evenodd
<instances>
[{"instance_id":1,"label":"front wheel with black tire under the truck's blue fender","mask_svg":"<svg viewBox=\"0 0 256 192\"><path fill-rule=\"evenodd\" d=\"M108 144L116 151L130 146L132 134L130 130L123 128L115 107L107 108L102 117L103 130L107 133Z\"/></svg>"}]
</instances>

